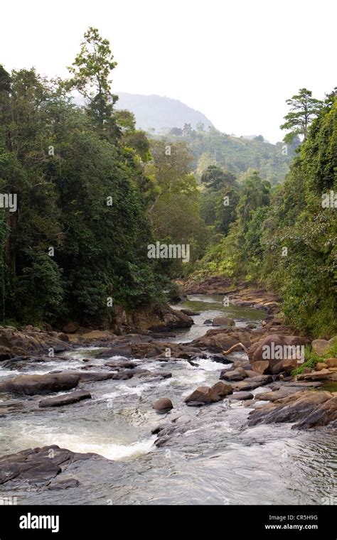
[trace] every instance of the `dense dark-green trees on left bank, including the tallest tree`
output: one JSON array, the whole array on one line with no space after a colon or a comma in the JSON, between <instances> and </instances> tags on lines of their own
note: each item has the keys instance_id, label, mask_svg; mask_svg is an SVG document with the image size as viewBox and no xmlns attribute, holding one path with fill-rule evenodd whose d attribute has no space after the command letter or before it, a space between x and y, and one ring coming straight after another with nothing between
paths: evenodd
<instances>
[{"instance_id":1,"label":"dense dark-green trees on left bank, including the tallest tree","mask_svg":"<svg viewBox=\"0 0 337 540\"><path fill-rule=\"evenodd\" d=\"M147 258L149 141L131 115L114 118L109 44L93 29L85 37L71 84L0 70L0 188L18 200L18 212L0 215L3 320L108 323L109 297L127 308L161 298ZM74 107L66 87L100 95L98 117L92 101Z\"/></svg>"}]
</instances>

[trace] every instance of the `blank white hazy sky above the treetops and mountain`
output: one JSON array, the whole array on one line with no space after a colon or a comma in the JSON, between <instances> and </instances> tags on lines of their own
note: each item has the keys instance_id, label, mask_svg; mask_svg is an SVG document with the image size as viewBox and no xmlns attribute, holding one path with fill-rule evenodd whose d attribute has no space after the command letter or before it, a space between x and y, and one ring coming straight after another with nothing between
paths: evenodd
<instances>
[{"instance_id":1,"label":"blank white hazy sky above the treetops and mountain","mask_svg":"<svg viewBox=\"0 0 337 540\"><path fill-rule=\"evenodd\" d=\"M11 0L0 63L67 75L88 26L108 38L113 90L180 99L227 133L281 140L285 100L336 82L333 0Z\"/></svg>"}]
</instances>

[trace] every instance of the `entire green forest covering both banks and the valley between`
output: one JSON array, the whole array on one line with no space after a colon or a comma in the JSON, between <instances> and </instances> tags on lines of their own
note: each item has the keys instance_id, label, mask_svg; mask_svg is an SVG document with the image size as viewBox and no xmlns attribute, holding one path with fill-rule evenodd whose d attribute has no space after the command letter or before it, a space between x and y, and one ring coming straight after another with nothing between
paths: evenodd
<instances>
[{"instance_id":1,"label":"entire green forest covering both banks and the valley between","mask_svg":"<svg viewBox=\"0 0 337 540\"><path fill-rule=\"evenodd\" d=\"M333 335L336 92L304 92L312 114L286 117L284 156L202 126L151 138L114 107L114 68L95 28L68 80L0 67L3 323L109 325L115 306L161 302L175 278L220 274L279 293L295 328ZM156 242L191 257L151 259Z\"/></svg>"}]
</instances>

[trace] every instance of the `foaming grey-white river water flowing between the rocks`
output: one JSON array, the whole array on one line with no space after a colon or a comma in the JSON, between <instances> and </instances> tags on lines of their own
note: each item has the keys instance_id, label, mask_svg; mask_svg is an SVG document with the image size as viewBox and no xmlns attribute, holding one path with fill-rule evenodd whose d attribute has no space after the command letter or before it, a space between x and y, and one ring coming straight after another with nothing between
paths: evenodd
<instances>
[{"instance_id":1,"label":"foaming grey-white river water flowing between the rocks","mask_svg":"<svg viewBox=\"0 0 337 540\"><path fill-rule=\"evenodd\" d=\"M224 313L238 326L258 325L263 318L257 310L224 308L218 296L191 296L177 307L200 311L191 329L172 338L177 342L203 335L208 330L203 321ZM80 369L83 357L92 357L90 363L96 366L107 362L95 355L97 347L88 347L68 352L63 360L55 357L19 371L0 367L0 380L15 374ZM324 497L333 495L333 431L296 431L289 424L247 428L250 408L242 402L229 408L224 403L188 407L183 399L196 387L217 382L226 367L209 359L196 363L198 367L186 360L143 360L141 367L164 369L172 373L171 379L87 383L91 400L0 418L0 455L57 444L122 464L118 477L92 475L63 492L18 490L15 495L21 504L322 504ZM151 405L164 396L174 409L159 415ZM191 429L156 448L151 430L177 416L185 425L191 421Z\"/></svg>"}]
</instances>

